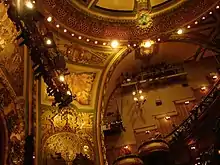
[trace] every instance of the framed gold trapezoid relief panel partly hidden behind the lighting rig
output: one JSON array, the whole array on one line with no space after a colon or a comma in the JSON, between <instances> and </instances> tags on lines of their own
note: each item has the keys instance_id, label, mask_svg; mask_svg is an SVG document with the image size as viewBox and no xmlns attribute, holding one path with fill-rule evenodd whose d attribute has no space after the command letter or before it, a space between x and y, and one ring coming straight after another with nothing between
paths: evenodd
<instances>
[{"instance_id":1,"label":"framed gold trapezoid relief panel partly hidden behind the lighting rig","mask_svg":"<svg viewBox=\"0 0 220 165\"><path fill-rule=\"evenodd\" d=\"M68 65L70 75L66 76L66 81L70 85L72 93L77 95L77 99L72 105L83 111L94 110L96 91L100 80L101 70L87 68L79 65ZM45 84L42 83L42 104L51 105L51 98L47 96Z\"/></svg>"}]
</instances>

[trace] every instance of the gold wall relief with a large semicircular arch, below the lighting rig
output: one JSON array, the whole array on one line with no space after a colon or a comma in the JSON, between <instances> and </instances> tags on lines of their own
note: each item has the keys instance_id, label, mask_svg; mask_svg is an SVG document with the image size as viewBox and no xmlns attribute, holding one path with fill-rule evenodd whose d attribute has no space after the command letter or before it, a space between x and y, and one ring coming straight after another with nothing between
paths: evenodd
<instances>
[{"instance_id":1,"label":"gold wall relief with a large semicircular arch, below the lighting rig","mask_svg":"<svg viewBox=\"0 0 220 165\"><path fill-rule=\"evenodd\" d=\"M65 161L72 161L76 153L94 158L92 113L81 113L72 107L60 112L51 106L41 105L41 141L43 159L61 153Z\"/></svg>"}]
</instances>

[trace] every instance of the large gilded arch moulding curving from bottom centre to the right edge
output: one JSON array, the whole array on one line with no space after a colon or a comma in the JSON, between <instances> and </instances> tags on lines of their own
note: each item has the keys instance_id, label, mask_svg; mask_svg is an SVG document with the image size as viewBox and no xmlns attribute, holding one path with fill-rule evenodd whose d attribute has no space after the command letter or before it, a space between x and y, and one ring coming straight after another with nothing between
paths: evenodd
<instances>
[{"instance_id":1,"label":"large gilded arch moulding curving from bottom centre to the right edge","mask_svg":"<svg viewBox=\"0 0 220 165\"><path fill-rule=\"evenodd\" d=\"M190 37L187 36L184 38L182 37L170 37L167 40L161 40L160 43L165 43L165 42L183 42L183 43L192 43L198 46L202 46L208 50L212 50L214 52L220 52L220 48L217 46L217 44L214 44L212 41L205 39L201 39L201 37ZM101 130L101 124L103 121L103 115L104 111L106 108L107 101L106 99L104 100L105 94L106 94L106 89L108 88L108 82L111 79L111 76L116 68L116 66L123 60L123 58L129 54L129 49L127 48L125 53L122 53L118 56L115 56L105 71L103 72L103 79L101 80L100 84L100 92L98 94L98 104L97 104L97 114L96 114L96 119L95 119L95 133L96 133L96 140L97 140L97 149L98 149L98 157L99 157L99 164L104 165L106 161L105 155L103 155L103 150L105 149L104 143L103 143L103 135L102 135L102 130ZM108 100L108 99L107 99Z\"/></svg>"}]
</instances>

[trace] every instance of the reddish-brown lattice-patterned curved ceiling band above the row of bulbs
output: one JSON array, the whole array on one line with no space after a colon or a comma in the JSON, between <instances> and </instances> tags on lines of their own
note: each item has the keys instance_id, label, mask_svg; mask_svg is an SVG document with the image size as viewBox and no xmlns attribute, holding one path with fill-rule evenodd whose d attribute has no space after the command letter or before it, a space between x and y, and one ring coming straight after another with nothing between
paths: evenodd
<instances>
[{"instance_id":1,"label":"reddish-brown lattice-patterned curved ceiling band above the row of bulbs","mask_svg":"<svg viewBox=\"0 0 220 165\"><path fill-rule=\"evenodd\" d=\"M168 32L179 28L186 23L196 19L203 12L207 11L215 0L194 0L186 1L181 7L170 9L165 14L158 14L153 17L153 26L149 31L137 29L134 21L94 18L74 8L66 0L46 0L41 2L45 5L45 15L48 12L56 20L72 32L78 32L95 38L108 39L146 39L153 35Z\"/></svg>"}]
</instances>

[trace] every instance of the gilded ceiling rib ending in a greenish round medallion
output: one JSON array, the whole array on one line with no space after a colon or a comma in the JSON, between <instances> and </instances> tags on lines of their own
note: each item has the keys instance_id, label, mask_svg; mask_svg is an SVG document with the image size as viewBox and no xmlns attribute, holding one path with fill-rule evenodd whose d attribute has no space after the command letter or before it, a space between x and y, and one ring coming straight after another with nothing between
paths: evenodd
<instances>
[{"instance_id":1,"label":"gilded ceiling rib ending in a greenish round medallion","mask_svg":"<svg viewBox=\"0 0 220 165\"><path fill-rule=\"evenodd\" d=\"M137 27L138 28L151 28L153 20L150 16L151 13L150 0L137 0Z\"/></svg>"}]
</instances>

